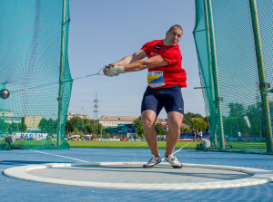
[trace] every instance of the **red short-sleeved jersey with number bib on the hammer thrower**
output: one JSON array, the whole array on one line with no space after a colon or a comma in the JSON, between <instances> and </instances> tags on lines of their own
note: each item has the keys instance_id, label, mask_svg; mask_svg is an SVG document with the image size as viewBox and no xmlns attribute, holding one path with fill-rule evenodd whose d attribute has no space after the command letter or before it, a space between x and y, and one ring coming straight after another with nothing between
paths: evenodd
<instances>
[{"instance_id":1,"label":"red short-sleeved jersey with number bib on the hammer thrower","mask_svg":"<svg viewBox=\"0 0 273 202\"><path fill-rule=\"evenodd\" d=\"M164 40L154 40L141 48L147 57L160 55L167 60L168 65L148 68L147 83L151 88L167 88L171 86L187 87L187 74L182 68L182 55L179 45L167 46Z\"/></svg>"}]
</instances>

